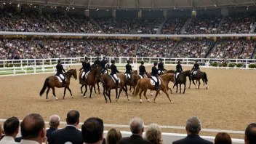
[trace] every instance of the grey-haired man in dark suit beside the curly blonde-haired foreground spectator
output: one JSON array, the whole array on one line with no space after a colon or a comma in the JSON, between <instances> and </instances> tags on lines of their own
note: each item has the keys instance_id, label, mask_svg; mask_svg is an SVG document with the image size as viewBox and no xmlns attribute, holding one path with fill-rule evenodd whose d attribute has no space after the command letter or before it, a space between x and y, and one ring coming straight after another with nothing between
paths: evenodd
<instances>
[{"instance_id":1,"label":"grey-haired man in dark suit beside the curly blonde-haired foreground spectator","mask_svg":"<svg viewBox=\"0 0 256 144\"><path fill-rule=\"evenodd\" d=\"M151 142L143 139L144 122L140 118L133 118L129 121L129 128L132 136L121 139L120 144L151 144Z\"/></svg>"}]
</instances>

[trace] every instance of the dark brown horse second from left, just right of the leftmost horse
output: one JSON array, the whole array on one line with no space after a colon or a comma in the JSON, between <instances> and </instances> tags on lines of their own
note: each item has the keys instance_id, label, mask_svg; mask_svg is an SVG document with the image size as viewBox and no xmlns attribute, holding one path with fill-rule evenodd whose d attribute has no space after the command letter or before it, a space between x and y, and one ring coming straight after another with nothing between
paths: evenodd
<instances>
[{"instance_id":1,"label":"dark brown horse second from left, just right of the leftmost horse","mask_svg":"<svg viewBox=\"0 0 256 144\"><path fill-rule=\"evenodd\" d=\"M81 74L83 73L83 71L80 71L79 73L79 79L81 79ZM95 84L96 84L96 79L97 77L100 77L100 68L91 68L91 71L89 71L88 76L86 79L84 79L83 84L81 84L81 95L83 95L83 90L82 88L85 86L85 91L84 91L84 98L86 98L87 96L85 95L87 92L87 85L89 85L89 90L90 90L90 94L89 94L89 98L92 98L92 88L95 88ZM95 90L95 95L96 95L96 90Z\"/></svg>"}]
</instances>

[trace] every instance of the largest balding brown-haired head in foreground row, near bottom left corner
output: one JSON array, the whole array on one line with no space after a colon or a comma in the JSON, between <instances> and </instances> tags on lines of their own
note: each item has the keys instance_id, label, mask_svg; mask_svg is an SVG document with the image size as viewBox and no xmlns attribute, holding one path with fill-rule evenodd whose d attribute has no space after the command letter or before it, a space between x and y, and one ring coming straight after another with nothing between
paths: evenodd
<instances>
[{"instance_id":1,"label":"largest balding brown-haired head in foreground row, near bottom left corner","mask_svg":"<svg viewBox=\"0 0 256 144\"><path fill-rule=\"evenodd\" d=\"M37 113L31 113L28 116L25 116L20 123L21 135L25 140L39 137L44 128L44 119Z\"/></svg>"}]
</instances>

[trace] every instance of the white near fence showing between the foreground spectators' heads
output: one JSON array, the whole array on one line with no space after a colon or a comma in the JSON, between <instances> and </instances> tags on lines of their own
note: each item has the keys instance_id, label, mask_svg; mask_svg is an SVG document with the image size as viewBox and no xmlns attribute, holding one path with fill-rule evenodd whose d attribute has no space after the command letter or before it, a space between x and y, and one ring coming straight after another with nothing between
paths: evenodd
<instances>
[{"instance_id":1,"label":"white near fence showing between the foreground spectators' heads","mask_svg":"<svg viewBox=\"0 0 256 144\"><path fill-rule=\"evenodd\" d=\"M6 119L0 119L1 123L4 123ZM20 120L21 122L21 120ZM48 121L45 121L45 124L49 124ZM60 124L66 124L66 122L61 121ZM81 127L83 123L79 123L79 127ZM121 124L104 124L104 127L117 127L118 128L129 128L129 125L121 125ZM148 127L148 125L145 125L145 128ZM161 129L185 129L185 127L177 127L177 126L159 126ZM47 128L48 129L48 128ZM81 130L81 129L79 129ZM231 130L222 130L222 129L201 129L201 132L227 132L229 134L241 134L244 135L244 131L231 131ZM104 131L104 137L107 135L108 131ZM131 132L126 132L126 131L121 131L122 137L129 137L132 135ZM176 134L176 133L167 133L167 132L162 132L161 133L164 144L172 144L173 141L175 140L180 140L184 137L186 137L186 134ZM17 134L17 137L21 137L20 132ZM145 137L145 132L143 133L143 137ZM201 136L202 138L212 141L214 143L215 137L211 136ZM232 138L232 143L233 144L244 144L244 140L241 139L234 139Z\"/></svg>"}]
</instances>

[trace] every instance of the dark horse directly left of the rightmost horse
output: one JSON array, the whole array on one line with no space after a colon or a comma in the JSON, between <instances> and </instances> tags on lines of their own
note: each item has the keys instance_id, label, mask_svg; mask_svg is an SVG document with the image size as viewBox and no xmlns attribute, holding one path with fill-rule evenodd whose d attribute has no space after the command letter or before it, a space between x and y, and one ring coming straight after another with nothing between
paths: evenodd
<instances>
[{"instance_id":1,"label":"dark horse directly left of the rightmost horse","mask_svg":"<svg viewBox=\"0 0 256 144\"><path fill-rule=\"evenodd\" d=\"M184 71L183 73L180 73L177 76L177 81L175 81L175 84L173 85L173 89L177 86L177 84L180 84L180 93L181 93L181 84L184 84L184 91L183 94L185 94L185 83L187 81L187 76L190 77L191 76L191 71ZM177 89L176 89L176 93L177 93Z\"/></svg>"}]
</instances>

